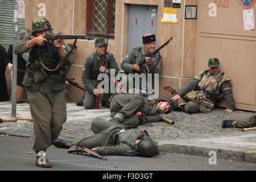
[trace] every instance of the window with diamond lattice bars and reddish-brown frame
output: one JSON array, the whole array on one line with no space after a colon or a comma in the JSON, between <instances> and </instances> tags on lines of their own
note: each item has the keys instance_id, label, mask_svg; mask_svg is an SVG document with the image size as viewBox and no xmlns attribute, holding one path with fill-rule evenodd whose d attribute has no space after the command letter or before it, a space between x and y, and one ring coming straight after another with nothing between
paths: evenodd
<instances>
[{"instance_id":1,"label":"window with diamond lattice bars and reddish-brown frame","mask_svg":"<svg viewBox=\"0 0 256 182\"><path fill-rule=\"evenodd\" d=\"M86 28L88 34L114 35L115 0L88 0Z\"/></svg>"}]
</instances>

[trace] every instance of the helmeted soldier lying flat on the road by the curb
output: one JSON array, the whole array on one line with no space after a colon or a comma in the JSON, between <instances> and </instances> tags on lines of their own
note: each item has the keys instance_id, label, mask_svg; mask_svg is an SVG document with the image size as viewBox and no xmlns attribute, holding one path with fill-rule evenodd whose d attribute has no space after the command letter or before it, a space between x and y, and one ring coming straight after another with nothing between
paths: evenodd
<instances>
[{"instance_id":1,"label":"helmeted soldier lying flat on the road by the curb","mask_svg":"<svg viewBox=\"0 0 256 182\"><path fill-rule=\"evenodd\" d=\"M152 157L158 154L157 143L150 138L147 131L134 127L125 127L107 122L102 118L92 121L92 131L95 135L65 141L56 139L54 146L71 148L72 146L92 148L100 155L123 155Z\"/></svg>"}]
</instances>

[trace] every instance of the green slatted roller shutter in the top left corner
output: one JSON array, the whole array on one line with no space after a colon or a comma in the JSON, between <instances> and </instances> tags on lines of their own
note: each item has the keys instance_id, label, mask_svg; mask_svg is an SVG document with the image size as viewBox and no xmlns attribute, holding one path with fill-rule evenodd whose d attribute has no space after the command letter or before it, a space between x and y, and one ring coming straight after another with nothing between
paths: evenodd
<instances>
[{"instance_id":1,"label":"green slatted roller shutter in the top left corner","mask_svg":"<svg viewBox=\"0 0 256 182\"><path fill-rule=\"evenodd\" d=\"M0 0L0 44L9 48L13 44L13 0ZM19 32L25 27L25 19L18 19L18 37Z\"/></svg>"}]
</instances>

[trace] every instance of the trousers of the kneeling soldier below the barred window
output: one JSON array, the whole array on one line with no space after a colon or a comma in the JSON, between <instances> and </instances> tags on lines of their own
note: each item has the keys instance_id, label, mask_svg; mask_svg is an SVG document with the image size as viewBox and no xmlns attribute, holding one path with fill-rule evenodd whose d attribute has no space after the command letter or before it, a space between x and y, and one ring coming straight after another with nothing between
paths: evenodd
<instances>
[{"instance_id":1,"label":"trousers of the kneeling soldier below the barred window","mask_svg":"<svg viewBox=\"0 0 256 182\"><path fill-rule=\"evenodd\" d=\"M97 80L93 80L92 82L94 83L94 85L96 87ZM102 100L108 101L111 95L112 95L112 93L110 93L110 92L103 93ZM86 91L85 96L84 96L84 102L83 102L85 109L93 109L95 106L95 103L96 103L96 95L94 95L91 92Z\"/></svg>"}]
</instances>

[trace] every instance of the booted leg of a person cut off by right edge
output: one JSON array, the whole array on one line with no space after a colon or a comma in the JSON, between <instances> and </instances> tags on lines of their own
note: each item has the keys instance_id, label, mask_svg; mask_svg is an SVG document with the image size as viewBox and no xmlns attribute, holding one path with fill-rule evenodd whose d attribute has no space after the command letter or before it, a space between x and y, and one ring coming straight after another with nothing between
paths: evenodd
<instances>
[{"instance_id":1,"label":"booted leg of a person cut off by right edge","mask_svg":"<svg viewBox=\"0 0 256 182\"><path fill-rule=\"evenodd\" d=\"M240 127L240 128L247 128L247 127L256 127L256 114L254 114L250 118L240 119L238 121L234 120L223 120L222 127L225 129L227 127Z\"/></svg>"}]
</instances>

